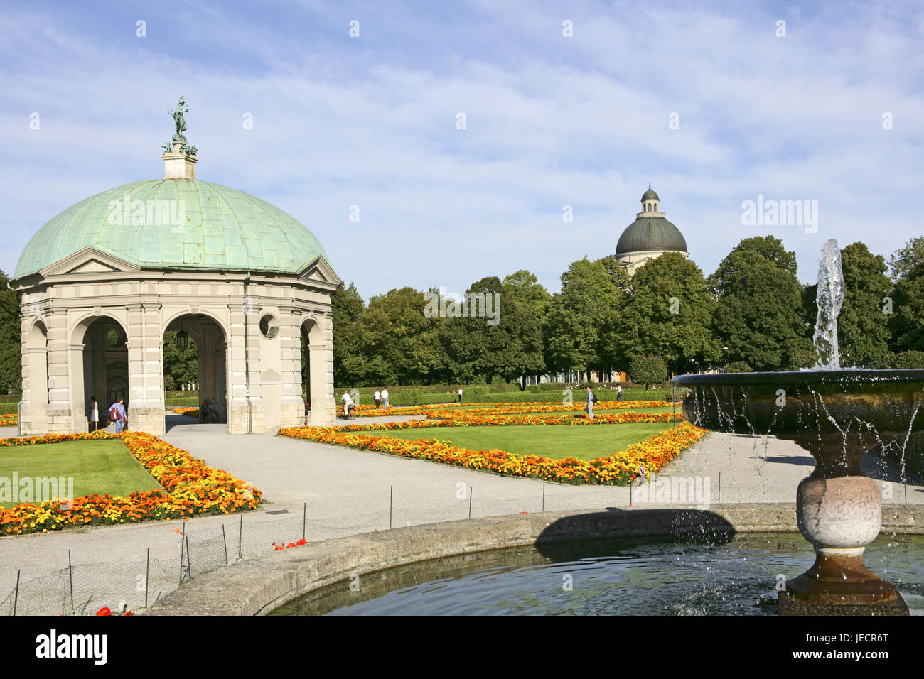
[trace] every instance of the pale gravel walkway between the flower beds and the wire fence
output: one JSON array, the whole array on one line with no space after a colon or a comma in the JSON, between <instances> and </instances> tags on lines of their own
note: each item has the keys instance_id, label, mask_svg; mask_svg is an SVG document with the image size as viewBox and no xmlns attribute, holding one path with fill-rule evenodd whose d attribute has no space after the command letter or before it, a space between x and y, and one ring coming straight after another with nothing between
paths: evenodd
<instances>
[{"instance_id":1,"label":"pale gravel walkway between the flower beds and the wire fence","mask_svg":"<svg viewBox=\"0 0 924 679\"><path fill-rule=\"evenodd\" d=\"M270 551L270 543L277 540L297 540L300 535L293 532L302 526L303 511L309 540L322 540L389 525L462 519L469 515L469 507L472 516L490 516L538 512L543 507L549 511L625 507L630 497L637 505L648 500L639 495L638 487L566 486L502 478L269 434L231 435L225 425L173 417L180 419L170 422L164 439L263 492L268 503L243 519L244 542L251 551L263 547ZM358 422L388 419L359 418ZM870 458L864 460L869 476L899 480L893 464ZM667 467L662 477L709 479L710 503L720 498L722 503L794 503L796 485L813 464L795 443L711 433ZM905 490L908 503L924 503L924 488L906 489L897 483L895 502L905 502ZM190 540L197 536L220 540L224 525L230 536L226 540L236 548L239 521L239 515L198 517L186 522L186 530ZM177 560L180 537L176 529L180 527L176 521L152 522L2 538L0 600L14 588L17 569L22 571L22 580L28 581L66 568L68 550L74 564L142 564L149 548L152 559Z\"/></svg>"}]
</instances>

